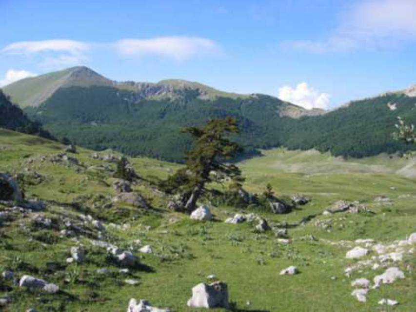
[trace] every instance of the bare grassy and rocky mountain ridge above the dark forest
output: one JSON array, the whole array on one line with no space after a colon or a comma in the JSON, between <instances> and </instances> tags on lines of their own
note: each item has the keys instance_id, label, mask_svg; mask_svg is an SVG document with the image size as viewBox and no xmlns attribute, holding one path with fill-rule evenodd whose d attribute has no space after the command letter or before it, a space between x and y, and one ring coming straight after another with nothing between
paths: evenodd
<instances>
[{"instance_id":1,"label":"bare grassy and rocky mountain ridge above the dark forest","mask_svg":"<svg viewBox=\"0 0 416 312\"><path fill-rule=\"evenodd\" d=\"M105 78L96 71L86 66L75 66L56 72L29 77L13 82L5 87L3 91L22 108L31 106L38 107L50 98L59 88L64 87L90 87L106 86L120 90L129 90L138 94L138 98L147 99L177 99L182 96L184 90L193 90L198 93L202 100L214 100L216 98L247 99L262 94L238 94L225 92L208 85L184 79L163 79L158 82L116 81ZM27 91L29 90L29 91ZM268 96L272 97L272 96ZM275 98L275 97L272 97ZM321 109L307 110L296 104L285 102L281 116L299 118L302 116L316 116L324 114Z\"/></svg>"}]
</instances>

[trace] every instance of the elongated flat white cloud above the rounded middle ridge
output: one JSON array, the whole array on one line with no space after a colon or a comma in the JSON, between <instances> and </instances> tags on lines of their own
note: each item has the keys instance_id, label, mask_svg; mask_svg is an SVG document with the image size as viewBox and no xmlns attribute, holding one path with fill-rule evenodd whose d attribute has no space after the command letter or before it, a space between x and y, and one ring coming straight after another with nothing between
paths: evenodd
<instances>
[{"instance_id":1,"label":"elongated flat white cloud above the rounded middle ridge","mask_svg":"<svg viewBox=\"0 0 416 312\"><path fill-rule=\"evenodd\" d=\"M124 56L156 55L178 61L221 53L215 41L199 37L122 39L116 42L116 49Z\"/></svg>"}]
</instances>

